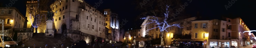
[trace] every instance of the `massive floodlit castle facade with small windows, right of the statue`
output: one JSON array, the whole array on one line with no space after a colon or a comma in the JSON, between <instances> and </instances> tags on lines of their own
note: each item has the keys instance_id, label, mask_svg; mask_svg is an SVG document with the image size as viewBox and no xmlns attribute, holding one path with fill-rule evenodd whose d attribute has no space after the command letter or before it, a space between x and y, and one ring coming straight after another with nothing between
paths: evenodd
<instances>
[{"instance_id":1,"label":"massive floodlit castle facade with small windows, right of the statue","mask_svg":"<svg viewBox=\"0 0 256 48\"><path fill-rule=\"evenodd\" d=\"M82 0L59 0L59 9L54 13L54 25L56 33L82 32L90 34L92 39L82 37L87 42L95 38L105 38L105 15ZM51 6L56 6L56 4Z\"/></svg>"}]
</instances>

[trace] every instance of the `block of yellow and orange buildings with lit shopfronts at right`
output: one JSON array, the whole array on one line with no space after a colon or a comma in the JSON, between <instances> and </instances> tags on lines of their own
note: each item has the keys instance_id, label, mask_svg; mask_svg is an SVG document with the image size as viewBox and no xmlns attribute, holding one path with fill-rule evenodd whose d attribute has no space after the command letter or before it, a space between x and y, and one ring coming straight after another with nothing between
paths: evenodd
<instances>
[{"instance_id":1,"label":"block of yellow and orange buildings with lit shopfronts at right","mask_svg":"<svg viewBox=\"0 0 256 48\"><path fill-rule=\"evenodd\" d=\"M243 33L249 28L241 18L225 18L223 20L193 20L191 39L202 41L204 48L241 47L250 44L250 35ZM248 28L248 29L247 29ZM247 29L247 30L245 30Z\"/></svg>"}]
</instances>

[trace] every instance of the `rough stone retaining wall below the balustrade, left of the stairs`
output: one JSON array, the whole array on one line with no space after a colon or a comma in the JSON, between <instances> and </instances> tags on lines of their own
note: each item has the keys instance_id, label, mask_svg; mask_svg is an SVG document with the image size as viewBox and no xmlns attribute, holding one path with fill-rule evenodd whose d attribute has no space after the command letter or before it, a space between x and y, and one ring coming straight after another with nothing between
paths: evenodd
<instances>
[{"instance_id":1,"label":"rough stone retaining wall below the balustrade, left of the stairs","mask_svg":"<svg viewBox=\"0 0 256 48\"><path fill-rule=\"evenodd\" d=\"M2 35L2 34L0 34ZM14 32L10 32L10 33L4 33L5 36L10 36L11 38L13 38L14 36ZM17 32L17 41L19 43L24 43L29 41L30 39L32 39L32 32Z\"/></svg>"}]
</instances>

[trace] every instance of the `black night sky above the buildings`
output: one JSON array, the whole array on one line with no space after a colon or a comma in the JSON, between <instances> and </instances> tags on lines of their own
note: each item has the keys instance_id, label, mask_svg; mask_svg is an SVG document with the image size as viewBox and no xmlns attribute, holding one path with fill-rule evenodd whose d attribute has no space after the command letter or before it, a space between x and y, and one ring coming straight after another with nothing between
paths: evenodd
<instances>
[{"instance_id":1,"label":"black night sky above the buildings","mask_svg":"<svg viewBox=\"0 0 256 48\"><path fill-rule=\"evenodd\" d=\"M93 6L95 3L99 2L99 0L85 1ZM256 0L237 0L230 8L228 8L228 10L226 10L225 5L228 5L228 1L231 2L231 0L192 0L191 3L188 3L188 6L186 6L185 11L183 12L186 12L186 14L191 16L196 16L197 12L200 12L201 16L210 18L220 17L221 15L240 16L250 30L256 30L256 25L254 25L255 20L253 20L256 16L256 3L254 3ZM122 21L122 19L128 21L123 28L132 28L135 26L135 17L140 14L140 12L135 9L136 6L140 5L133 5L133 2L134 0L103 0L103 3L100 4L98 10L111 9L112 12L119 14L120 21ZM183 0L183 3L184 2L188 1ZM10 1L4 0L2 3L3 7L5 7L5 4L10 3ZM12 7L16 7L23 15L25 15L26 5L24 0L16 1Z\"/></svg>"}]
</instances>

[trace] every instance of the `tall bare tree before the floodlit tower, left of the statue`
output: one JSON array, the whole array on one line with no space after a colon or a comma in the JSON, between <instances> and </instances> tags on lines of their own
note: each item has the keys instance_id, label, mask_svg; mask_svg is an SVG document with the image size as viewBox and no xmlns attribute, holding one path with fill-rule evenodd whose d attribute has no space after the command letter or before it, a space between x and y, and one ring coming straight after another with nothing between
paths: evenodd
<instances>
[{"instance_id":1,"label":"tall bare tree before the floodlit tower, left of the statue","mask_svg":"<svg viewBox=\"0 0 256 48\"><path fill-rule=\"evenodd\" d=\"M31 21L32 26L35 28L35 33L37 33L37 28L41 23L42 13L44 6L47 4L47 0L37 0L37 1L30 1L27 2L28 13L30 14L29 18Z\"/></svg>"}]
</instances>

